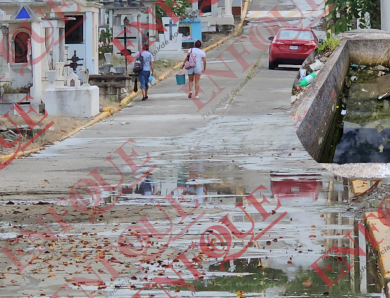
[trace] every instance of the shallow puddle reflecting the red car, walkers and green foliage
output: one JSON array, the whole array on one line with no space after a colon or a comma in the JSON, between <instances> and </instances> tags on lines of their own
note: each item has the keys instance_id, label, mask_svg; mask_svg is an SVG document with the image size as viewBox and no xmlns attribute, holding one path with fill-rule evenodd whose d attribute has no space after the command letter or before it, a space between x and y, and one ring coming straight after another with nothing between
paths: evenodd
<instances>
[{"instance_id":1,"label":"shallow puddle reflecting the red car, walkers and green foliage","mask_svg":"<svg viewBox=\"0 0 390 298\"><path fill-rule=\"evenodd\" d=\"M281 173L263 174L260 180L246 180L236 171L235 179L225 181L215 168L202 166L202 171L185 169L154 173L156 202L164 200L171 193L174 198L184 198L190 204L196 202L213 209L213 221L202 221L202 225L215 225L218 219L228 214L236 227L247 230L251 220L255 230L265 229L274 218L263 217L251 209L245 197L250 190L266 185L266 190L258 191L255 197L266 196L270 202L268 212L281 202L278 212L287 211L287 216L272 227L266 234L245 251L240 259L224 263L221 259L205 259L202 269L206 275L196 281L188 280L195 287L195 296L227 297L243 291L248 297L384 297L381 286L377 286L375 260L370 256L354 256L336 253L324 253L332 247L366 250L366 239L355 225L355 218L346 202L361 190L356 189L352 181L322 174L288 175ZM248 182L250 181L250 182ZM367 184L368 187L371 185ZM172 189L182 187L178 192ZM243 202L250 218L234 208ZM204 226L198 227L202 231ZM346 235L352 232L351 238ZM196 234L191 232L190 234ZM194 238L191 238L191 242ZM232 253L240 251L248 240L233 239ZM349 251L349 250L348 250ZM337 252L337 250L336 250ZM312 264L318 264L325 270L330 266L333 271L326 275L336 280L342 271L347 274L329 290L324 280L313 270ZM351 270L348 266L352 267ZM188 289L180 288L183 296L191 296Z\"/></svg>"}]
</instances>

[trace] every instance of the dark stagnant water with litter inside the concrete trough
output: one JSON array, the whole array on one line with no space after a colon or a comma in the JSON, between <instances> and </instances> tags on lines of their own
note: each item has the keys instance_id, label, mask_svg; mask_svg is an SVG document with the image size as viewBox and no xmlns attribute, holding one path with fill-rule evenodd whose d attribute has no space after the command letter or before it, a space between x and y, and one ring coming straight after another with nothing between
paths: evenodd
<instances>
[{"instance_id":1,"label":"dark stagnant water with litter inside the concrete trough","mask_svg":"<svg viewBox=\"0 0 390 298\"><path fill-rule=\"evenodd\" d=\"M378 77L379 72L388 73L376 67L350 69L321 163L390 161L390 78Z\"/></svg>"}]
</instances>

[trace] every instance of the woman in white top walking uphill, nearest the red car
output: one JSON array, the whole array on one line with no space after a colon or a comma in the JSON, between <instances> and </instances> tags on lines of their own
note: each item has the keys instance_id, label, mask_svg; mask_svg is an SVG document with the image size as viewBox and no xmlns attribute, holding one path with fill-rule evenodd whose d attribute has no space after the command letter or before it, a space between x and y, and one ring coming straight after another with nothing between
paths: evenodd
<instances>
[{"instance_id":1,"label":"woman in white top walking uphill, nearest the red car","mask_svg":"<svg viewBox=\"0 0 390 298\"><path fill-rule=\"evenodd\" d=\"M197 40L195 42L195 48L188 50L188 55L190 55L191 53L196 55L196 66L194 68L187 70L189 86L190 86L190 93L188 94L188 98L192 97L192 88L194 86L194 78L195 78L195 98L199 99L198 93L199 93L200 75L206 71L206 53L200 49L201 47L202 47L202 42L200 40ZM181 68L184 67L184 64L187 61L187 59L188 56L184 59ZM203 72L202 72L202 61L203 61Z\"/></svg>"}]
</instances>

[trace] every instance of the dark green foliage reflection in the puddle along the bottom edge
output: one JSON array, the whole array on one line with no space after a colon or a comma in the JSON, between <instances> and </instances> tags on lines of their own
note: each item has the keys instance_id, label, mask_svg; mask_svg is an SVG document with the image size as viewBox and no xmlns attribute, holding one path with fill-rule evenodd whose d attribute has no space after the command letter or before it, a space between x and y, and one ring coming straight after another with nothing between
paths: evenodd
<instances>
[{"instance_id":1,"label":"dark green foliage reflection in the puddle along the bottom edge","mask_svg":"<svg viewBox=\"0 0 390 298\"><path fill-rule=\"evenodd\" d=\"M331 276L337 278L343 268L342 262L334 257L324 260L335 270ZM210 266L209 271L217 276L194 281L191 285L195 286L197 292L243 291L249 297L254 294L262 294L261 297L385 297L382 289L375 286L373 278L370 279L369 285L361 287L363 281L358 266L326 290L324 281L313 270L296 268L295 276L291 278L282 269L266 267L266 263L267 261L261 258L239 259L224 266L222 272L226 276L218 276L221 272L220 264L215 264ZM369 270L372 268L367 267L368 272ZM231 275L233 272L235 276Z\"/></svg>"}]
</instances>

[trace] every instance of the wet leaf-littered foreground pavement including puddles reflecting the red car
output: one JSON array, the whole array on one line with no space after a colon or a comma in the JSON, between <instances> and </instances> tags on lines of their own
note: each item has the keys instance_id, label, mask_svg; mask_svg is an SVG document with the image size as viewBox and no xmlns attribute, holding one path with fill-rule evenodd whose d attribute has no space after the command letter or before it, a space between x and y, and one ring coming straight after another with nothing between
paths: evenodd
<instances>
[{"instance_id":1,"label":"wet leaf-littered foreground pavement including puddles reflecting the red car","mask_svg":"<svg viewBox=\"0 0 390 298\"><path fill-rule=\"evenodd\" d=\"M93 297L132 297L153 278L161 276L177 278L165 265L171 263L192 244L196 247L189 252L200 259L195 268L205 274L193 281L192 272L183 264L174 263L174 268L191 290L189 291L188 287L165 286L170 289L172 295L235 297L237 292L242 291L245 297L385 297L377 275L375 256L369 254L370 250L366 249L364 236L354 229L362 218L361 212L370 210L368 202L372 202L373 199L366 200L366 203L360 206L349 203L353 195L347 180L339 181L329 175L272 173L268 175L269 188L253 194L257 199L262 195L268 199L269 203L264 204L267 212L272 214L272 210L276 210L264 220L259 211L244 200L248 194L240 179L228 183L215 176L205 177L206 173L211 171L208 167L204 170L203 177L199 175L190 177L191 175L184 174L183 185L190 192L191 187L201 185L207 190L207 195L185 194L180 197L180 192L173 194L185 212L191 214L184 220L167 203L164 195L150 197L139 194L123 195L109 212L94 216L93 224L90 223L90 212L75 212L69 204L61 204L61 208L64 209L61 210L59 206L57 211L66 210L69 215L63 216L63 219L67 223L72 223L73 227L63 233L58 224L49 223L48 218L44 218L47 227L58 239L36 240L34 237L37 236L30 234L29 236L38 242L37 245L42 250L38 258L32 256L33 252L39 254L39 251L38 248L34 248L28 237L18 236L21 231L36 230L37 218L51 204L37 205L35 201L15 202L11 205L4 202L0 206L1 247L5 247L11 240L19 239L19 242L12 242L7 247L14 253L21 249L25 255L18 258L23 264L31 260L31 264L19 275L12 262L4 254L1 255L0 287L3 290L0 296L51 296L68 281L72 289L63 291L60 297L66 296L65 293L71 297L86 297L86 294ZM263 182L265 181L264 177ZM154 178L157 193L171 189L172 183L177 185L177 181L172 181L168 174L157 175ZM384 191L387 192L387 189L388 186L385 186ZM187 202L182 202L183 198ZM279 208L278 201L281 203ZM196 202L201 204L196 207ZM241 202L244 209L237 208L237 204ZM161 210L166 214L154 211L157 203L160 203ZM147 251L145 243L133 239L137 233L145 236L142 230L135 228L136 222L139 223L145 215L157 230L148 238ZM260 235L272 223L276 224L256 241L251 241L249 246L251 237L243 239L233 237L229 241L228 237L231 235L221 233L225 245L229 248L229 255L239 253L245 248L239 258L225 262L221 268L223 255L210 257L207 246L203 249L205 246L202 248L200 241L202 234L207 235L207 231L215 231L215 226L221 227L218 222L226 215L240 232L250 230L253 221L255 236ZM168 221L166 216L169 218ZM195 224L189 227L194 220ZM352 233L354 241L366 250L367 256L343 255L347 264L344 264L336 254L322 257L332 246L352 248L352 240L346 237L351 230L354 231ZM136 234L132 234L135 231ZM161 233L162 237L158 238L158 233ZM117 245L121 243L121 235L124 236L122 238L122 242L126 244L124 246ZM168 241L172 235L177 239ZM111 244L115 244L115 247L110 249L108 247ZM123 247L130 248L130 244L134 245L133 251L137 252L138 257L128 255L123 250ZM162 244L168 245L162 250L161 255L153 257L154 253L161 251ZM215 246L219 247L218 242ZM115 271L107 270L109 267L97 261L96 257L104 251L105 259L110 260L109 263ZM191 254L186 255L188 258L191 257ZM151 259L142 262L141 259L144 257ZM332 280L340 276L343 269L348 273L330 289L326 289L321 277L309 268L316 261L323 270L327 264L331 266L334 271L328 276ZM96 276L88 270L88 264L93 265L92 268L106 286L100 284ZM355 267L348 270L347 265ZM114 281L113 272L121 272ZM122 284L123 281L126 283ZM81 287L86 294L77 287ZM157 289L142 293L144 295L149 293L154 295L153 297L167 297L163 291Z\"/></svg>"}]
</instances>

